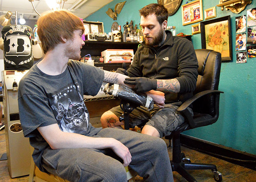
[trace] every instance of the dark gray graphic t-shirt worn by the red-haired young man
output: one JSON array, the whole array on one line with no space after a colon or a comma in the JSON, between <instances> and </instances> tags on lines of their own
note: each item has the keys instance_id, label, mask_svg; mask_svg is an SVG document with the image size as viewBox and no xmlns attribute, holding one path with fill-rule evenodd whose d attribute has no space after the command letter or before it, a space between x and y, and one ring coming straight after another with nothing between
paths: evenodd
<instances>
[{"instance_id":1,"label":"dark gray graphic t-shirt worn by the red-haired young man","mask_svg":"<svg viewBox=\"0 0 256 182\"><path fill-rule=\"evenodd\" d=\"M20 122L25 137L35 148L33 159L40 163L44 149L49 144L37 127L57 123L64 132L93 136L101 128L89 123L89 113L83 94L95 96L104 79L104 71L79 61L69 61L67 69L59 75L48 75L34 65L20 80L18 106Z\"/></svg>"}]
</instances>

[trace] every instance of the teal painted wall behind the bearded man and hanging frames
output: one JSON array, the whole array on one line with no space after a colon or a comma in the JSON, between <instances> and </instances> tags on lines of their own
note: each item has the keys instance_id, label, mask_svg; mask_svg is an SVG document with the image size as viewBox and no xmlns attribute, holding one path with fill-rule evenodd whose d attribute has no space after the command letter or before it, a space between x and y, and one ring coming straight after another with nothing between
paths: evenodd
<instances>
[{"instance_id":1,"label":"teal painted wall behind the bearded man and hanging frames","mask_svg":"<svg viewBox=\"0 0 256 182\"><path fill-rule=\"evenodd\" d=\"M120 0L114 0L103 8L85 18L87 21L100 21L104 23L105 32L111 30L113 19L105 13L108 8L114 9ZM183 0L184 5L187 0ZM138 10L157 0L127 0L123 10L117 15L117 22L121 27L125 22L133 20L134 25L139 25ZM216 6L219 0L202 0L203 10ZM256 0L246 9L256 7ZM221 11L216 7L216 18L231 16L232 45L235 45L236 26L235 17L246 15L246 10L239 14L231 11ZM212 20L212 19L210 19ZM197 22L198 23L198 22ZM195 23L196 24L196 23ZM181 8L176 14L168 18L168 26L176 26L177 33L191 35L191 25L182 26ZM122 27L123 31L123 27ZM201 34L192 36L195 49L201 48ZM220 98L220 116L218 121L211 126L192 129L184 134L197 137L206 141L232 147L239 151L256 154L256 58L248 58L247 63L236 64L236 51L233 48L233 60L223 62L221 65L221 78L219 90L224 91Z\"/></svg>"}]
</instances>

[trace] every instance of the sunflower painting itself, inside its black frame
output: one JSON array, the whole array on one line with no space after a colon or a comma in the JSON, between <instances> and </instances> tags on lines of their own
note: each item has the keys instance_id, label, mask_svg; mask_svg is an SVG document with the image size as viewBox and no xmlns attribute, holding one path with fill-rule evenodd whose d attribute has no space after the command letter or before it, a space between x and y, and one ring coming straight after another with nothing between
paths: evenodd
<instances>
[{"instance_id":1,"label":"sunflower painting itself, inside its black frame","mask_svg":"<svg viewBox=\"0 0 256 182\"><path fill-rule=\"evenodd\" d=\"M206 49L221 53L221 57L229 56L228 20L205 25Z\"/></svg>"}]
</instances>

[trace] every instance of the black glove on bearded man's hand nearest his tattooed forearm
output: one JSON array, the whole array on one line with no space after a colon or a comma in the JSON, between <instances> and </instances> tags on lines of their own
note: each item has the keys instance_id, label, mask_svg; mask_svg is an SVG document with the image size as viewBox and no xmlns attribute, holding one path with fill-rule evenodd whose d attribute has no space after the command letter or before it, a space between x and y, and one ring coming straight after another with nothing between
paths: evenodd
<instances>
[{"instance_id":1,"label":"black glove on bearded man's hand nearest his tattooed forearm","mask_svg":"<svg viewBox=\"0 0 256 182\"><path fill-rule=\"evenodd\" d=\"M149 79L144 77L137 77L137 78L125 78L125 84L132 84L135 85L134 89L137 92L147 92L150 90L156 90L157 88L157 80L156 79Z\"/></svg>"}]
</instances>

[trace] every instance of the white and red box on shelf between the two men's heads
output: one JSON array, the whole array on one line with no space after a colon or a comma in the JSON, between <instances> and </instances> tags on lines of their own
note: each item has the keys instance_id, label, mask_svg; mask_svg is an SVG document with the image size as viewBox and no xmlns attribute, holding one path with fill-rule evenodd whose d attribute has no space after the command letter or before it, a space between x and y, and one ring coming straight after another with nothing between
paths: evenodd
<instances>
[{"instance_id":1,"label":"white and red box on shelf between the two men's heads","mask_svg":"<svg viewBox=\"0 0 256 182\"><path fill-rule=\"evenodd\" d=\"M101 52L104 63L131 63L134 57L132 49L107 49Z\"/></svg>"}]
</instances>

